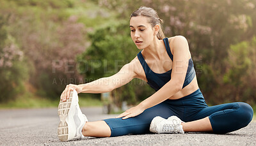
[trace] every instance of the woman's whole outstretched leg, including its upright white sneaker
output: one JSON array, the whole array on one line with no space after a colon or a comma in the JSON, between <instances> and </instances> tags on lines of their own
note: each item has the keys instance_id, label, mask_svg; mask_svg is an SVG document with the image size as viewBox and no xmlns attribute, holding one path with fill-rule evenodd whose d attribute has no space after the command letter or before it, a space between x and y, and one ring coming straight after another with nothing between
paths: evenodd
<instances>
[{"instance_id":1,"label":"woman's whole outstretched leg, including its upright white sneaker","mask_svg":"<svg viewBox=\"0 0 256 146\"><path fill-rule=\"evenodd\" d=\"M112 118L96 122L88 122L81 112L78 104L77 92L70 93L67 101L60 101L58 114L60 124L58 136L61 141L84 138L84 136L109 137L128 134L141 135L150 133L151 120L156 116L168 118L172 115L179 116L182 107L169 106L166 103L148 108L143 113L129 119Z\"/></svg>"}]
</instances>

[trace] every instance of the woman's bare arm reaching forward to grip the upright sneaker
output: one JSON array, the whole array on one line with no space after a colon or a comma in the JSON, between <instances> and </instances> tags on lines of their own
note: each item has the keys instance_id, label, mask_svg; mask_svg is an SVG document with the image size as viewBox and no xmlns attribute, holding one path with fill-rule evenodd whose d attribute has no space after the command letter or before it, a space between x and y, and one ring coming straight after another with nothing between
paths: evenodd
<instances>
[{"instance_id":1,"label":"woman's bare arm reaching forward to grip the upright sneaker","mask_svg":"<svg viewBox=\"0 0 256 146\"><path fill-rule=\"evenodd\" d=\"M128 64L125 64L118 73L111 77L99 78L93 82L87 84L74 85L69 84L61 94L61 100L65 101L69 98L70 91L76 90L77 93L102 93L113 91L122 85L129 83L132 78L136 77L134 71L135 61L132 60Z\"/></svg>"}]
</instances>

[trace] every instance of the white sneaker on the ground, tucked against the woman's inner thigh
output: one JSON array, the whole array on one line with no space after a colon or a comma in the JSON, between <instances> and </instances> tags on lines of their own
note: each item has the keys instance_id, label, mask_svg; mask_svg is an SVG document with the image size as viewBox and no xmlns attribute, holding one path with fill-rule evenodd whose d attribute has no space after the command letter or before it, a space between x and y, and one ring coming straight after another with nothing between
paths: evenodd
<instances>
[{"instance_id":1,"label":"white sneaker on the ground, tucked against the woman's inner thigh","mask_svg":"<svg viewBox=\"0 0 256 146\"><path fill-rule=\"evenodd\" d=\"M182 120L173 115L168 119L163 117L154 117L150 124L150 132L152 133L184 133L181 125Z\"/></svg>"}]
</instances>

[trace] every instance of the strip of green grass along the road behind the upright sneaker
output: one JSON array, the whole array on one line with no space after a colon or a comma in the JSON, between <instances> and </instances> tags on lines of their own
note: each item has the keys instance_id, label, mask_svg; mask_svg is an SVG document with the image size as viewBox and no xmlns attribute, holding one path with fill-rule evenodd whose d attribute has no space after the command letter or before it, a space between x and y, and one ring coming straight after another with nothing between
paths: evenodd
<instances>
[{"instance_id":1,"label":"strip of green grass along the road behind the upright sneaker","mask_svg":"<svg viewBox=\"0 0 256 146\"><path fill-rule=\"evenodd\" d=\"M59 99L59 98L58 98ZM58 107L59 100L52 100L35 96L32 93L26 92L14 101L0 103L0 109L3 108L51 108ZM79 95L79 105L83 106L102 106L102 102L98 98Z\"/></svg>"}]
</instances>

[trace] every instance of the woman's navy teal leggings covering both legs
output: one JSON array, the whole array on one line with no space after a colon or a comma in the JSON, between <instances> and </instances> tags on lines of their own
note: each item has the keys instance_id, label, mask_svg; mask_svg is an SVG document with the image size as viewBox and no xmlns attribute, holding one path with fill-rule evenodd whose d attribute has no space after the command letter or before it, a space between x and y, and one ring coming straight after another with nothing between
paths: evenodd
<instances>
[{"instance_id":1,"label":"woman's navy teal leggings covering both legs","mask_svg":"<svg viewBox=\"0 0 256 146\"><path fill-rule=\"evenodd\" d=\"M150 133L151 120L160 116L165 119L176 115L184 122L209 117L213 133L229 133L247 126L253 117L253 110L247 103L226 103L207 106L200 89L180 99L167 99L159 105L129 119L104 120L111 129L111 136L141 135Z\"/></svg>"}]
</instances>

